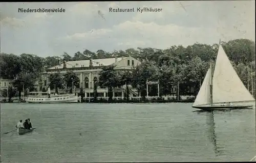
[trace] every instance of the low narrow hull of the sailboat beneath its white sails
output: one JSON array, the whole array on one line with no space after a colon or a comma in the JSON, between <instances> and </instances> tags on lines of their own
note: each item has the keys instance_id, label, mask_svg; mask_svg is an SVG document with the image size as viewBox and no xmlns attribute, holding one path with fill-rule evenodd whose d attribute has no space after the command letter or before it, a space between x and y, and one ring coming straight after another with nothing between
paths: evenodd
<instances>
[{"instance_id":1,"label":"low narrow hull of the sailboat beneath its white sails","mask_svg":"<svg viewBox=\"0 0 256 163\"><path fill-rule=\"evenodd\" d=\"M192 106L193 108L198 108L202 110L227 110L227 109L249 109L252 105L242 105L242 106Z\"/></svg>"}]
</instances>

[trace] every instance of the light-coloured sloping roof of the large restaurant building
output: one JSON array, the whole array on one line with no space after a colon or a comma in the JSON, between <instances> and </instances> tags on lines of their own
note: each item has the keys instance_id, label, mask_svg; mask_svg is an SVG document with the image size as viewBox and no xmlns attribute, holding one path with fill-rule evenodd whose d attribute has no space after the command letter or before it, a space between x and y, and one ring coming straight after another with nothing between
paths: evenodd
<instances>
[{"instance_id":1,"label":"light-coloured sloping roof of the large restaurant building","mask_svg":"<svg viewBox=\"0 0 256 163\"><path fill-rule=\"evenodd\" d=\"M121 61L122 59L126 59L128 57L120 57L120 58L104 58L104 59L92 59L93 66L108 66L114 64L116 62ZM117 61L116 61L117 59ZM89 67L90 60L80 60L80 61L68 61L66 62L67 68L74 68L74 67ZM56 69L63 68L63 63L60 65L56 65L47 69Z\"/></svg>"}]
</instances>

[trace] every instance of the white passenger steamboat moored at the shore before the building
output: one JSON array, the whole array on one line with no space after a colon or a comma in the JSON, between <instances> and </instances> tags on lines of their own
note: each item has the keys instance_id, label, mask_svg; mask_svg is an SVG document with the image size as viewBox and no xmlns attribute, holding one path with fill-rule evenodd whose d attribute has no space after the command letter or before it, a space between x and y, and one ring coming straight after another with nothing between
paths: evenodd
<instances>
[{"instance_id":1,"label":"white passenger steamboat moored at the shore before the building","mask_svg":"<svg viewBox=\"0 0 256 163\"><path fill-rule=\"evenodd\" d=\"M78 97L74 94L51 94L48 92L30 92L26 102L28 103L77 103Z\"/></svg>"}]
</instances>

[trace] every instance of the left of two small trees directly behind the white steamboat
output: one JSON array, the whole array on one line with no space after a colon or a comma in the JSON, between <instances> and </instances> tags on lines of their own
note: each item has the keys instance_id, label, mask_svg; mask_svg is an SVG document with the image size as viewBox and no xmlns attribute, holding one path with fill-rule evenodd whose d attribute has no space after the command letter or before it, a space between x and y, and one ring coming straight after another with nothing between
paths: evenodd
<instances>
[{"instance_id":1,"label":"left of two small trees directly behind the white steamboat","mask_svg":"<svg viewBox=\"0 0 256 163\"><path fill-rule=\"evenodd\" d=\"M58 88L63 87L63 78L61 77L60 73L50 74L49 76L49 86L50 89L55 88L55 92L58 94Z\"/></svg>"}]
</instances>

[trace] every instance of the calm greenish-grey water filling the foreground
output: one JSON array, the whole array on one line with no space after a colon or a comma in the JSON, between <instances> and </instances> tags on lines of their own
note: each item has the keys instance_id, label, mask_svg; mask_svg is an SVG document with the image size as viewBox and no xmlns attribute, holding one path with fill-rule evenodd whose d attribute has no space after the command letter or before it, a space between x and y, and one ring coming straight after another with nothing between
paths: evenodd
<instances>
[{"instance_id":1,"label":"calm greenish-grey water filling the foreground","mask_svg":"<svg viewBox=\"0 0 256 163\"><path fill-rule=\"evenodd\" d=\"M255 156L255 108L198 112L191 105L1 104L1 161L249 161ZM27 118L35 131L3 134Z\"/></svg>"}]
</instances>

